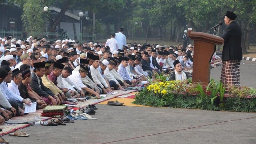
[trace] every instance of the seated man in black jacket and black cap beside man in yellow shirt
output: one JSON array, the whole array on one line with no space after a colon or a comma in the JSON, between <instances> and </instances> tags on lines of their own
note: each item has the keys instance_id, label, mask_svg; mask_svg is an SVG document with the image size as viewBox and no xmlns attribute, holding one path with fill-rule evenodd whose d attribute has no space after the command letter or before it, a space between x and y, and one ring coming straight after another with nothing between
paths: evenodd
<instances>
[{"instance_id":1,"label":"seated man in black jacket and black cap beside man in yellow shirt","mask_svg":"<svg viewBox=\"0 0 256 144\"><path fill-rule=\"evenodd\" d=\"M45 71L45 63L39 62L34 64L34 72L31 74L32 79L30 82L30 87L34 90L38 95L42 96L42 99L49 105L57 105L56 96L52 93L50 89L44 86L42 82L42 78L44 76Z\"/></svg>"}]
</instances>

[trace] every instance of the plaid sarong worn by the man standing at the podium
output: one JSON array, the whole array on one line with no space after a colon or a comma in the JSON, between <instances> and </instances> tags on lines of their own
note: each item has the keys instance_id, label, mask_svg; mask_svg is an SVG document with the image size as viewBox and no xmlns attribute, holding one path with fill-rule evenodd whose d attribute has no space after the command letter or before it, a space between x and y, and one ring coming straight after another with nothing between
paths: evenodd
<instances>
[{"instance_id":1,"label":"plaid sarong worn by the man standing at the podium","mask_svg":"<svg viewBox=\"0 0 256 144\"><path fill-rule=\"evenodd\" d=\"M240 85L240 60L226 60L222 61L220 82L223 86L237 86Z\"/></svg>"}]
</instances>

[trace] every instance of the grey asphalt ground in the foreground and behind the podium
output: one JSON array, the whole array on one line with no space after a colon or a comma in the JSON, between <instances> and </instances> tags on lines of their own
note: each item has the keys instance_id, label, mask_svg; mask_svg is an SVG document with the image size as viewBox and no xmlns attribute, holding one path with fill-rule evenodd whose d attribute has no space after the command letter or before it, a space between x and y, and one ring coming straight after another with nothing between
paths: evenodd
<instances>
[{"instance_id":1,"label":"grey asphalt ground in the foreground and behind the podium","mask_svg":"<svg viewBox=\"0 0 256 144\"><path fill-rule=\"evenodd\" d=\"M256 63L241 63L241 85L255 87ZM211 71L212 77L219 79L220 68ZM3 138L11 143L26 144L83 144L116 140L122 141L113 143L256 143L256 113L100 104L96 106L99 110L94 117L98 120L77 120L66 126L33 125L22 130L30 134L29 137L5 135Z\"/></svg>"}]
</instances>

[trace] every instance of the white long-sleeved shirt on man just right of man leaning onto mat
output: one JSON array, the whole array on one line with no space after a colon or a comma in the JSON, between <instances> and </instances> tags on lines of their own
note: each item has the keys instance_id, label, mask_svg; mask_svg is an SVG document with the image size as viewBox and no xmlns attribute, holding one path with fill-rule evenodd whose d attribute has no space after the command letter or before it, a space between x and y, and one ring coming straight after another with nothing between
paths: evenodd
<instances>
[{"instance_id":1,"label":"white long-sleeved shirt on man just right of man leaning onto mat","mask_svg":"<svg viewBox=\"0 0 256 144\"><path fill-rule=\"evenodd\" d=\"M104 85L104 87L107 88L108 84L107 84L106 80L102 77L102 75L100 74L99 69L98 68L95 69L91 65L90 70L91 70L92 79L95 82L95 84L100 85L100 88L103 88L103 85Z\"/></svg>"}]
</instances>

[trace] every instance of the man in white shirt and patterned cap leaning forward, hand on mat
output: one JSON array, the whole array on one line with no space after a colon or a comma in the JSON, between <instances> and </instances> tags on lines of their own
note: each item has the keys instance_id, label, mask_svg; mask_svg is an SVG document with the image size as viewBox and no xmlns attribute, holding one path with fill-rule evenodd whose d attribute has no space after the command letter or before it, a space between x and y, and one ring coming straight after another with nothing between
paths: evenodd
<instances>
[{"instance_id":1,"label":"man in white shirt and patterned cap leaning forward, hand on mat","mask_svg":"<svg viewBox=\"0 0 256 144\"><path fill-rule=\"evenodd\" d=\"M87 92L89 94L96 95L97 98L100 98L100 95L97 92L93 91L92 89L88 88L83 84L81 78L84 78L87 75L87 72L88 72L88 67L80 65L79 71L72 72L72 74L68 78L71 80L74 80L74 83L78 87L82 88L82 90L84 90L84 93Z\"/></svg>"}]
</instances>

